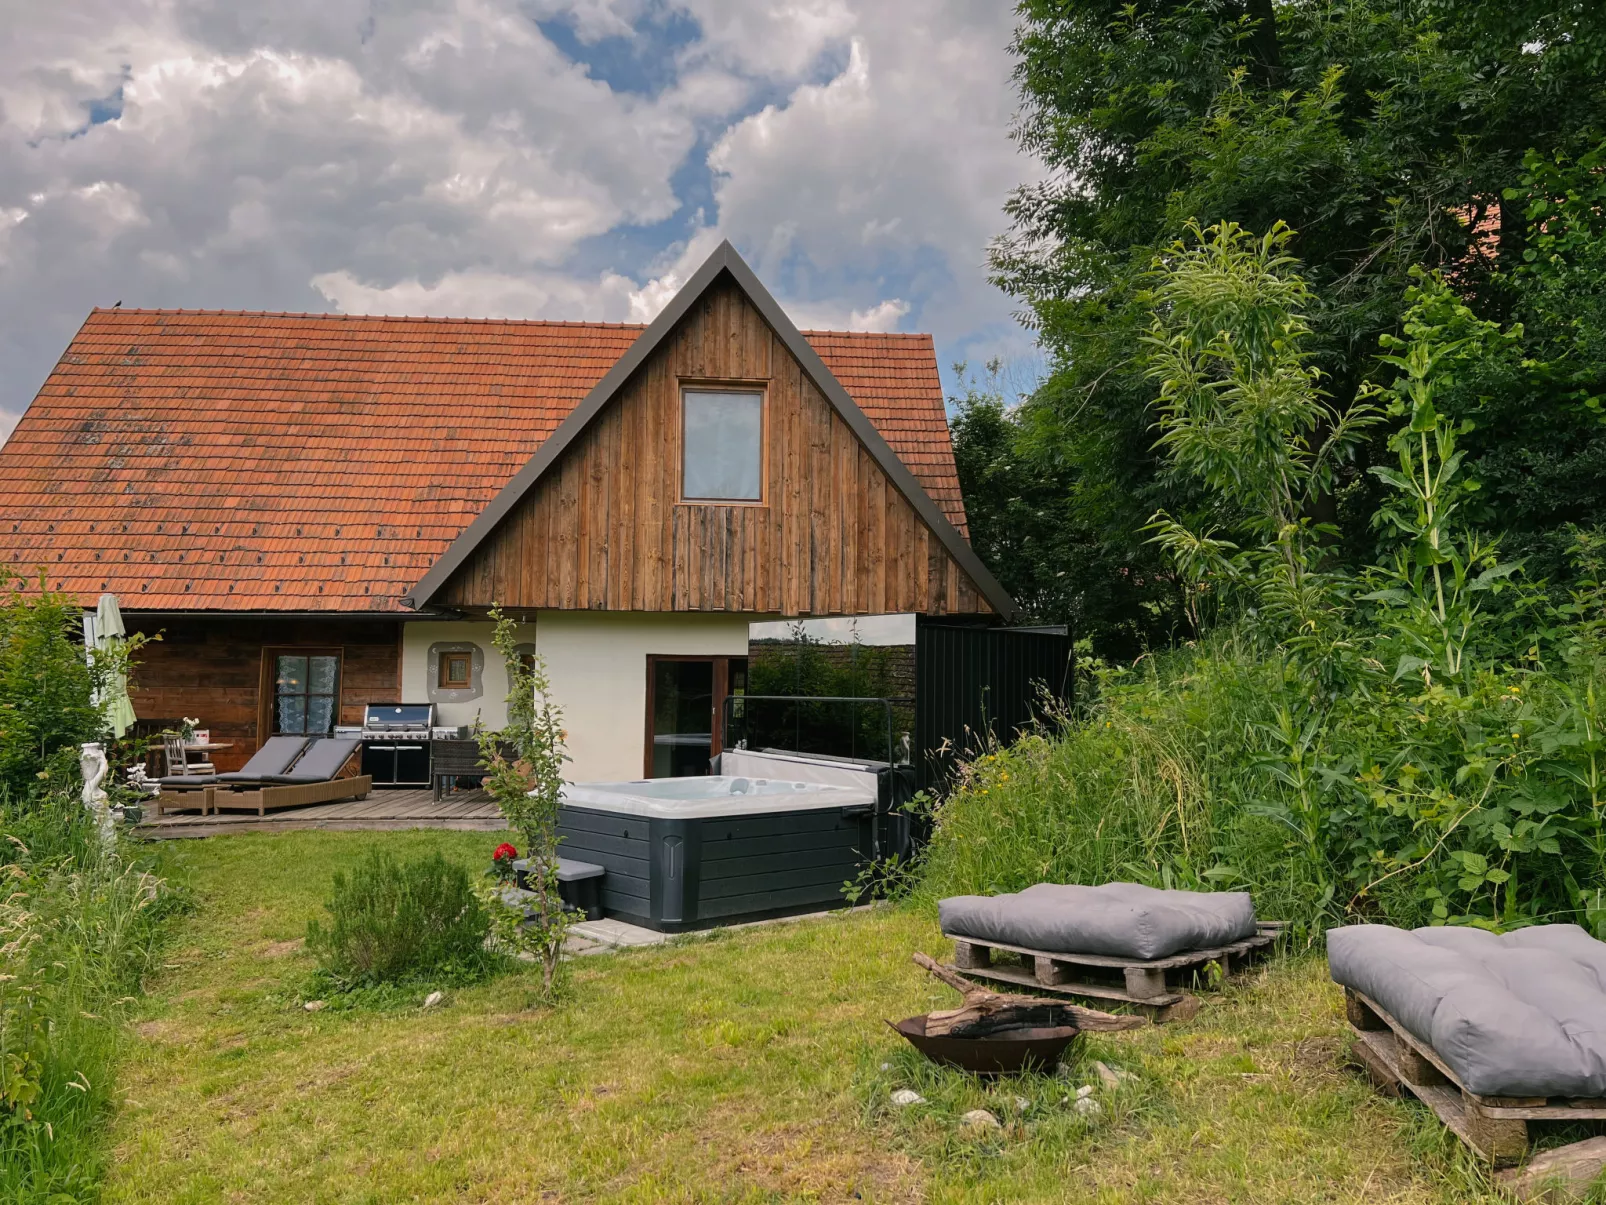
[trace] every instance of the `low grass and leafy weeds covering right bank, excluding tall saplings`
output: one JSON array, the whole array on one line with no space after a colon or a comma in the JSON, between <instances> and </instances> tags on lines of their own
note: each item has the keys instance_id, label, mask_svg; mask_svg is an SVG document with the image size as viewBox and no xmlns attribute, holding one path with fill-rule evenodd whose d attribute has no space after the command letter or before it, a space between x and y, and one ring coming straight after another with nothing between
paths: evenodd
<instances>
[{"instance_id":1,"label":"low grass and leafy weeds covering right bank, excluding tall saplings","mask_svg":"<svg viewBox=\"0 0 1606 1205\"><path fill-rule=\"evenodd\" d=\"M1248 890L1309 938L1355 919L1606 937L1598 594L1455 689L1355 638L1323 696L1249 625L1105 673L1055 731L962 768L919 890L1126 879Z\"/></svg>"}]
</instances>

